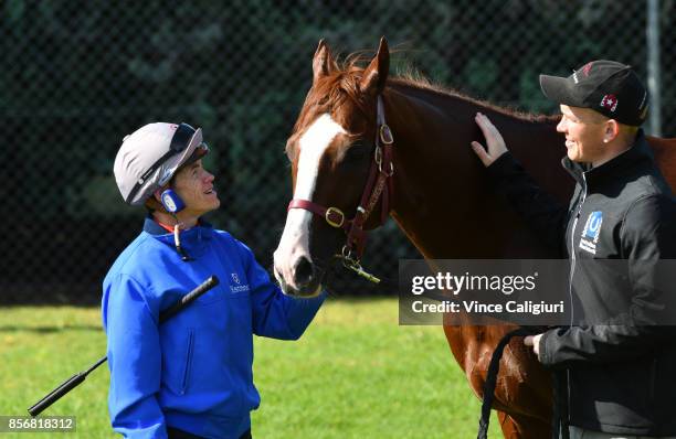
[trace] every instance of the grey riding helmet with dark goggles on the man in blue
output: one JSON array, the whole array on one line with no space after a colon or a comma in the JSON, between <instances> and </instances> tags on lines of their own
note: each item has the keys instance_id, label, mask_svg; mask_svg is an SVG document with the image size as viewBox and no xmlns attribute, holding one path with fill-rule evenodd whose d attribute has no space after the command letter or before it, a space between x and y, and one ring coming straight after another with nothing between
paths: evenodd
<instances>
[{"instance_id":1,"label":"grey riding helmet with dark goggles on the man in blue","mask_svg":"<svg viewBox=\"0 0 676 439\"><path fill-rule=\"evenodd\" d=\"M180 167L207 152L201 128L155 122L137 129L124 138L113 167L125 203L142 205Z\"/></svg>"}]
</instances>

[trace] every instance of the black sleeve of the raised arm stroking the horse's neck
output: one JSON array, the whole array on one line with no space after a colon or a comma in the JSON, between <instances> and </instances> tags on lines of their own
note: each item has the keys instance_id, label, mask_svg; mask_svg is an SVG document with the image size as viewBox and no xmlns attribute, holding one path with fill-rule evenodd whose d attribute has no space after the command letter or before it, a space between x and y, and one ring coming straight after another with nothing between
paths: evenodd
<instances>
[{"instance_id":1,"label":"black sleeve of the raised arm stroking the horse's neck","mask_svg":"<svg viewBox=\"0 0 676 439\"><path fill-rule=\"evenodd\" d=\"M511 152L498 157L487 170L496 182L496 191L507 197L548 247L556 249L558 255L564 255L567 206L542 190Z\"/></svg>"}]
</instances>

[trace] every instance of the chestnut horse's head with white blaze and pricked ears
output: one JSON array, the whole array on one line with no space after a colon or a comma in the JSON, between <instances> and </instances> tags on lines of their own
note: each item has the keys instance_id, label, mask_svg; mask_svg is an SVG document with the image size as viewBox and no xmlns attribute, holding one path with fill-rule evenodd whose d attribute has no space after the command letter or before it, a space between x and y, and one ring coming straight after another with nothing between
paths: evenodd
<instances>
[{"instance_id":1,"label":"chestnut horse's head with white blaze and pricked ears","mask_svg":"<svg viewBox=\"0 0 676 439\"><path fill-rule=\"evenodd\" d=\"M324 41L315 52L313 86L286 143L294 202L305 202L289 206L274 255L275 276L287 295L318 293L346 244L374 153L377 100L389 56L384 39L366 68L356 61L338 67ZM367 226L378 215L370 216Z\"/></svg>"}]
</instances>

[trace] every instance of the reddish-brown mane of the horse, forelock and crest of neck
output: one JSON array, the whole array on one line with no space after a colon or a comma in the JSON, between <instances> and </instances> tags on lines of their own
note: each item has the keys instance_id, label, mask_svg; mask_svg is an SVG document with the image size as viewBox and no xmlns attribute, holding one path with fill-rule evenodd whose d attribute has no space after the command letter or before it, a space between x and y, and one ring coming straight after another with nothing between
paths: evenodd
<instances>
[{"instance_id":1,"label":"reddish-brown mane of the horse, forelock and crest of neck","mask_svg":"<svg viewBox=\"0 0 676 439\"><path fill-rule=\"evenodd\" d=\"M314 117L314 115L329 111L331 108L340 107L346 103L346 99L349 99L358 108L360 108L365 115L367 115L368 113L366 111L363 103L360 99L359 83L361 82L361 77L363 75L363 65L369 61L370 57L366 56L366 52L355 52L346 56L341 62L334 61L332 66L329 69L330 72L319 82L314 84L313 88L309 90L298 120L294 126L294 132L306 126L308 121L306 119L308 117ZM558 120L558 117L556 116L535 115L473 98L456 89L433 84L424 75L412 69L410 66L404 68L406 69L405 73L388 77L387 86L413 88L440 96L465 100L480 108L525 121L553 122Z\"/></svg>"}]
</instances>

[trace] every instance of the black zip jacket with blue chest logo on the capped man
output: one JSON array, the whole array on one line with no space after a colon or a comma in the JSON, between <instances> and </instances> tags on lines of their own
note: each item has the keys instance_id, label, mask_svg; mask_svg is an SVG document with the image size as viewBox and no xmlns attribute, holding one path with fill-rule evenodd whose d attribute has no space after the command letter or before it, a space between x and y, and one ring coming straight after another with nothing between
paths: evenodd
<instances>
[{"instance_id":1,"label":"black zip jacket with blue chest logo on the capped man","mask_svg":"<svg viewBox=\"0 0 676 439\"><path fill-rule=\"evenodd\" d=\"M656 264L676 259L676 201L642 131L598 168L562 163L577 181L568 208L510 153L488 168L538 235L570 258L577 324L545 333L540 362L567 371L569 424L676 435L676 282L664 282L676 272L664 272L672 261Z\"/></svg>"}]
</instances>

